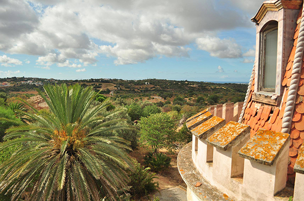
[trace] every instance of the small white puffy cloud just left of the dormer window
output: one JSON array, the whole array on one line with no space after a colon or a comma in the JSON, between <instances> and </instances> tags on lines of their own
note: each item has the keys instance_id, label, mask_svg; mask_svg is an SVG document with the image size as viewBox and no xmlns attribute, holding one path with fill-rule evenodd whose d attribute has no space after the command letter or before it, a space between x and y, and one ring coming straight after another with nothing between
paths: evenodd
<instances>
[{"instance_id":1,"label":"small white puffy cloud just left of the dormer window","mask_svg":"<svg viewBox=\"0 0 304 201\"><path fill-rule=\"evenodd\" d=\"M242 56L242 47L233 39L206 36L197 38L196 44L198 45L198 49L209 52L212 57L240 58Z\"/></svg>"}]
</instances>

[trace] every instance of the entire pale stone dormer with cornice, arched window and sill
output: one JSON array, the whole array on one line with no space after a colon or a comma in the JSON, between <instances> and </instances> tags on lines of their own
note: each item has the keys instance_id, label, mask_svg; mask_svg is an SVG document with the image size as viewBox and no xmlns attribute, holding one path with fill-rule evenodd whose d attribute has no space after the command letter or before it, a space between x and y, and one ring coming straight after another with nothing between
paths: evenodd
<instances>
[{"instance_id":1,"label":"entire pale stone dormer with cornice, arched window and sill","mask_svg":"<svg viewBox=\"0 0 304 201\"><path fill-rule=\"evenodd\" d=\"M279 106L283 96L282 80L293 47L293 34L302 1L264 2L251 19L256 24L254 93L258 103Z\"/></svg>"}]
</instances>

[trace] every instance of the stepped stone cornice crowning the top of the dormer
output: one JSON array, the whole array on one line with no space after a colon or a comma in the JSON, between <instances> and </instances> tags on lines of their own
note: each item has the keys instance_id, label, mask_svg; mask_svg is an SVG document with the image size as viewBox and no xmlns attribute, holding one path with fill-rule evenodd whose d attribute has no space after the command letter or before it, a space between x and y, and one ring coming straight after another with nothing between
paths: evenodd
<instances>
[{"instance_id":1,"label":"stepped stone cornice crowning the top of the dormer","mask_svg":"<svg viewBox=\"0 0 304 201\"><path fill-rule=\"evenodd\" d=\"M279 11L281 9L300 9L303 0L276 0L263 2L258 12L251 19L252 22L260 23L268 11Z\"/></svg>"}]
</instances>

